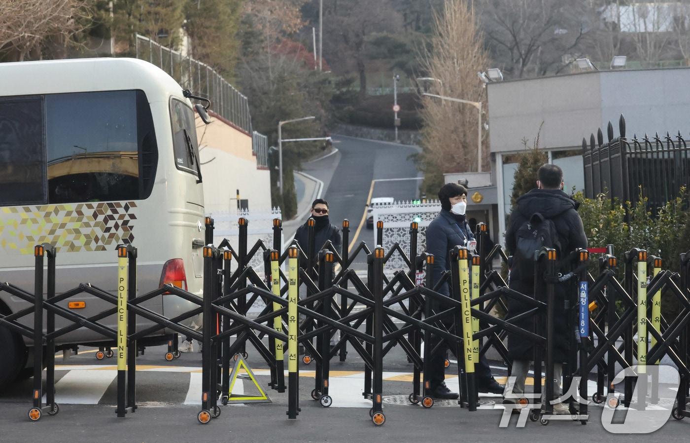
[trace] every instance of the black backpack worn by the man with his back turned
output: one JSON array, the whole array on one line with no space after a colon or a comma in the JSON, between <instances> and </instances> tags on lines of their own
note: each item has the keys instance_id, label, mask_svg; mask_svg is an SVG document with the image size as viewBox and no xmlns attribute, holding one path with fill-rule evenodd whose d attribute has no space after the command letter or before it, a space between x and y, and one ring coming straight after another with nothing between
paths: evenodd
<instances>
[{"instance_id":1,"label":"black backpack worn by the man with his back turned","mask_svg":"<svg viewBox=\"0 0 690 443\"><path fill-rule=\"evenodd\" d=\"M535 212L515 233L513 271L517 271L520 281L534 280L535 251L544 246L556 249L560 255L560 241L553 220Z\"/></svg>"}]
</instances>

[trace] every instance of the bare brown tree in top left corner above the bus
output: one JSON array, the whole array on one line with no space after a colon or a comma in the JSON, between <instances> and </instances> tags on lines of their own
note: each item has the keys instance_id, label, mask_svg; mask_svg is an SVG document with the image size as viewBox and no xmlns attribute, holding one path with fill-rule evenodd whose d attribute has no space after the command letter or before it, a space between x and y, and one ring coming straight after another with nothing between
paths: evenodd
<instances>
[{"instance_id":1,"label":"bare brown tree in top left corner above the bus","mask_svg":"<svg viewBox=\"0 0 690 443\"><path fill-rule=\"evenodd\" d=\"M0 53L6 59L23 61L38 52L48 37L62 39L83 30L90 17L92 0L2 0L0 1Z\"/></svg>"}]
</instances>

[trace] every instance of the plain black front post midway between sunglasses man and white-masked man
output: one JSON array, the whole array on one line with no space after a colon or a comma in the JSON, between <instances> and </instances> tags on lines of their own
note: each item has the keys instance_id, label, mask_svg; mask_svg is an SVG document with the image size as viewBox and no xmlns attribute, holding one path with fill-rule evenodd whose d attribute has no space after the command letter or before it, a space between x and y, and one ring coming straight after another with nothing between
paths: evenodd
<instances>
[{"instance_id":1,"label":"plain black front post midway between sunglasses man and white-masked man","mask_svg":"<svg viewBox=\"0 0 690 443\"><path fill-rule=\"evenodd\" d=\"M382 222L379 222L382 223ZM386 422L383 413L383 315L384 315L384 248L374 249L373 261L373 296L374 296L374 321L373 321L373 406L371 408L371 420L376 426Z\"/></svg>"}]
</instances>

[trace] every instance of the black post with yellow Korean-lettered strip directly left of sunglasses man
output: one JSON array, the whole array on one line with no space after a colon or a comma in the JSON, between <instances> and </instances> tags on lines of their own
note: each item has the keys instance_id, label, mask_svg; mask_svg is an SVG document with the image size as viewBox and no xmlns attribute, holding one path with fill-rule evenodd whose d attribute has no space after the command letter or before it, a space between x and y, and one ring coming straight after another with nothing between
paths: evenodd
<instances>
[{"instance_id":1,"label":"black post with yellow Korean-lettered strip directly left of sunglasses man","mask_svg":"<svg viewBox=\"0 0 690 443\"><path fill-rule=\"evenodd\" d=\"M297 298L299 294L299 256L297 247L288 249L288 418L299 414L299 370L297 361Z\"/></svg>"}]
</instances>

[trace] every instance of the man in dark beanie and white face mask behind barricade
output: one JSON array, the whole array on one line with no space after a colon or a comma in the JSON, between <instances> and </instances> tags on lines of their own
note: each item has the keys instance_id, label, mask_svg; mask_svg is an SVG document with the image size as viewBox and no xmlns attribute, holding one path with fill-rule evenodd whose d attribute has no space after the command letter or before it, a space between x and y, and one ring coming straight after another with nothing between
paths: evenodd
<instances>
[{"instance_id":1,"label":"man in dark beanie and white face mask behind barricade","mask_svg":"<svg viewBox=\"0 0 690 443\"><path fill-rule=\"evenodd\" d=\"M446 183L438 192L438 199L441 202L441 211L426 228L426 252L434 255L433 278L440 281L444 272L451 269L451 257L449 252L455 246L464 246L474 252L476 245L474 235L466 220L467 209L467 189L456 183ZM444 283L437 290L445 296L450 296L448 283ZM431 303L431 309L439 313L444 308L440 303ZM444 320L448 324L451 319ZM459 327L459 326L458 326ZM431 343L425 346L436 348L440 337L432 336ZM438 399L457 399L457 393L453 393L445 383L445 360L448 352L448 345L442 344L431 355L431 361L425 362L424 372L426 379L431 382L431 396ZM459 364L463 364L462 359L458 359ZM486 363L484 355L480 357L479 364L475 366L477 375L477 391L480 393L502 394L504 387L500 385L491 374L491 368Z\"/></svg>"}]
</instances>

